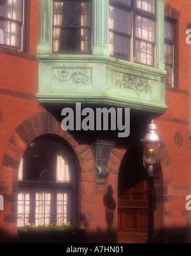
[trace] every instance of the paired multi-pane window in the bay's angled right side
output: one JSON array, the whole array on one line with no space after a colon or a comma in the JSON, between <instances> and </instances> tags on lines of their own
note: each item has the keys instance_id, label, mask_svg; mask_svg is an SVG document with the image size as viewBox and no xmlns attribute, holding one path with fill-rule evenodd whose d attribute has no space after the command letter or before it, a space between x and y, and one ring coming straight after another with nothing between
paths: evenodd
<instances>
[{"instance_id":1,"label":"paired multi-pane window in the bay's angled right side","mask_svg":"<svg viewBox=\"0 0 191 256\"><path fill-rule=\"evenodd\" d=\"M110 0L111 56L154 66L156 20L155 0Z\"/></svg>"}]
</instances>

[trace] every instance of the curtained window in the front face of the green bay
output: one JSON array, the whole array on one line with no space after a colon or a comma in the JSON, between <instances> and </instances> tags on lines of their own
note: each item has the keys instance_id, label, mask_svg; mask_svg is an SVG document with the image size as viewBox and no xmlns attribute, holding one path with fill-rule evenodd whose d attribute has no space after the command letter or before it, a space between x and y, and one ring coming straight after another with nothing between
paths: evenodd
<instances>
[{"instance_id":1,"label":"curtained window in the front face of the green bay","mask_svg":"<svg viewBox=\"0 0 191 256\"><path fill-rule=\"evenodd\" d=\"M53 52L90 53L92 1L53 1Z\"/></svg>"}]
</instances>

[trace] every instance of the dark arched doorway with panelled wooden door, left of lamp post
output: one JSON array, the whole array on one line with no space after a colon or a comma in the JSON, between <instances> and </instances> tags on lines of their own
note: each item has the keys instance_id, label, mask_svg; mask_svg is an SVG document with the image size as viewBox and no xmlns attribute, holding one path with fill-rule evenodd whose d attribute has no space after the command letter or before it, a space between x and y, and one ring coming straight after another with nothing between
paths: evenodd
<instances>
[{"instance_id":1,"label":"dark arched doorway with panelled wooden door, left of lamp post","mask_svg":"<svg viewBox=\"0 0 191 256\"><path fill-rule=\"evenodd\" d=\"M148 182L143 147L129 147L118 172L118 243L147 243Z\"/></svg>"}]
</instances>

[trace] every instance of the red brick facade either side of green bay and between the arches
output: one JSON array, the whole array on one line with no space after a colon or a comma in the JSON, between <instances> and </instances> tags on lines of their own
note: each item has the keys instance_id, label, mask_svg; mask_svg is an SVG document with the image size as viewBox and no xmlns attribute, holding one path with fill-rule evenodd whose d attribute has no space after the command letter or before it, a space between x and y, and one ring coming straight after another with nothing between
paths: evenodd
<instances>
[{"instance_id":1,"label":"red brick facade either side of green bay and between the arches","mask_svg":"<svg viewBox=\"0 0 191 256\"><path fill-rule=\"evenodd\" d=\"M167 190L163 195L163 209L160 210L164 212L164 226L168 230L171 227L185 227L190 214L185 209L185 197L191 194L189 139L191 101L188 75L191 73L188 56L191 45L185 43L185 31L188 22L191 22L188 12L188 6L191 4L189 0L168 0L167 2L181 13L178 26L178 88L166 88L168 109L165 114L155 119L158 133L164 141L160 152L160 163ZM3 213L0 211L0 232L4 231L11 235L17 234L17 224L15 225L17 222L15 219L17 216L17 168L15 164L17 165L20 161L26 147L24 140L20 139L15 130L22 122L29 121L29 118L32 121L33 114L44 110L35 97L38 92L38 62L36 61L38 24L39 0L31 0L29 1L28 52L25 54L0 47L0 193L4 195L5 202ZM29 135L28 126L24 127L26 134ZM174 145L174 135L177 132L180 132L183 137L180 149ZM63 135L60 130L56 133ZM97 230L104 232L107 224L103 197L111 184L113 197L117 202L118 168L125 149L113 149L108 163L110 176L107 183L97 185L90 147L79 146L72 137L67 137L67 140L74 147L80 162L79 211L82 223L90 232L97 232ZM4 158L5 154L6 157L11 158ZM3 160L4 165L1 167ZM117 209L114 213L113 228L117 229Z\"/></svg>"}]
</instances>

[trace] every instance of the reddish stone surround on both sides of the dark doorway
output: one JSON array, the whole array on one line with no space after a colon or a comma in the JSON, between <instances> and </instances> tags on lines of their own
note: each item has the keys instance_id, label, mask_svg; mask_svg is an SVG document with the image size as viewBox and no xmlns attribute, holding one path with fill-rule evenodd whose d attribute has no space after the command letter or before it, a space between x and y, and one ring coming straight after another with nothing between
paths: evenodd
<instances>
[{"instance_id":1,"label":"reddish stone surround on both sides of the dark doorway","mask_svg":"<svg viewBox=\"0 0 191 256\"><path fill-rule=\"evenodd\" d=\"M120 169L120 163L125 157L126 149L113 148L111 152L110 159L108 161L108 168L110 169L110 176L108 180L116 183L116 191L118 187L118 171ZM164 236L164 222L167 214L167 206L165 205L169 200L171 200L171 195L169 195L169 186L173 184L173 169L171 164L171 158L164 142L160 144L159 147L159 165L156 169L155 175L155 189L156 189L156 206L157 211L155 211L155 226L154 235L157 239L156 241L166 241L166 236ZM115 199L117 200L118 195ZM165 210L166 209L166 210ZM117 224L116 224L117 225Z\"/></svg>"}]
</instances>

